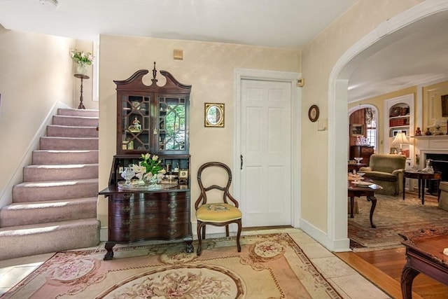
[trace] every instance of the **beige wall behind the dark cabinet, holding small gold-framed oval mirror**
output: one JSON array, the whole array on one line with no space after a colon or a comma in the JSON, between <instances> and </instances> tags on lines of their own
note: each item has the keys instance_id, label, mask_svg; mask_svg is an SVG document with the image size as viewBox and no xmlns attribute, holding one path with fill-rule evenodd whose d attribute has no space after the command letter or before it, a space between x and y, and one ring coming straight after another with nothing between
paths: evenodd
<instances>
[{"instance_id":1,"label":"beige wall behind the dark cabinet, holding small gold-framed oval mirror","mask_svg":"<svg viewBox=\"0 0 448 299\"><path fill-rule=\"evenodd\" d=\"M220 160L232 165L234 69L265 69L300 72L300 50L262 48L228 43L205 43L123 36L100 37L99 69L99 188L105 188L113 155L116 153L116 85L139 69L169 71L183 84L192 85L190 96L190 174L192 202L199 195L195 177L204 162ZM184 60L174 60L173 50L181 49ZM159 75L160 76L160 75ZM159 77L160 78L160 77ZM160 82L161 83L161 82ZM204 127L204 103L225 104L225 127ZM107 223L106 200L100 197L99 220Z\"/></svg>"}]
</instances>

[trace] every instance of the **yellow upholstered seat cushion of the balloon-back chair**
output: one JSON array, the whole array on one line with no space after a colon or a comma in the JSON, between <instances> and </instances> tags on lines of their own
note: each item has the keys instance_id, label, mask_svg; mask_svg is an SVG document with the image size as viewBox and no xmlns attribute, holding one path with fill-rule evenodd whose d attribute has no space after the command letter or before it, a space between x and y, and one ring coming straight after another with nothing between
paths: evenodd
<instances>
[{"instance_id":1,"label":"yellow upholstered seat cushion of the balloon-back chair","mask_svg":"<svg viewBox=\"0 0 448 299\"><path fill-rule=\"evenodd\" d=\"M230 204L202 204L196 210L196 218L202 222L223 223L242 217L241 211Z\"/></svg>"}]
</instances>

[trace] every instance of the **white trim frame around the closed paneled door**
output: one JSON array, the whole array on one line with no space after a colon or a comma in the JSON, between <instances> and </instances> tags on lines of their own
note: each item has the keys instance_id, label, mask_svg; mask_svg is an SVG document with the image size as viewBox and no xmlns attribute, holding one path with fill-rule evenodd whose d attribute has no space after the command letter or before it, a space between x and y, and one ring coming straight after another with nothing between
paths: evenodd
<instances>
[{"instance_id":1,"label":"white trim frame around the closed paneled door","mask_svg":"<svg viewBox=\"0 0 448 299\"><path fill-rule=\"evenodd\" d=\"M240 128L241 128L241 81L243 80L259 80L259 81L279 81L287 82L291 85L291 225L295 228L299 227L300 220L300 122L301 107L300 99L302 90L297 87L297 79L301 78L300 73L289 71L266 71L261 69L235 69L234 70L234 103L233 103L233 183L232 194L236 198L241 198L241 172L240 169Z\"/></svg>"}]
</instances>

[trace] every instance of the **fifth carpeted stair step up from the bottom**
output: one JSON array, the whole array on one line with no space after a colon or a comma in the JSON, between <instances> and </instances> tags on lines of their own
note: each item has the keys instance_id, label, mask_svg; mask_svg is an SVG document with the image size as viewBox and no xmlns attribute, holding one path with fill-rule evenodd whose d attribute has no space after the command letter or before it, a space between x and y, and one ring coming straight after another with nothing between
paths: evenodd
<instances>
[{"instance_id":1,"label":"fifth carpeted stair step up from the bottom","mask_svg":"<svg viewBox=\"0 0 448 299\"><path fill-rule=\"evenodd\" d=\"M33 151L32 157L35 165L58 165L73 164L73 162L82 164L98 163L98 150L79 150L79 151Z\"/></svg>"}]
</instances>

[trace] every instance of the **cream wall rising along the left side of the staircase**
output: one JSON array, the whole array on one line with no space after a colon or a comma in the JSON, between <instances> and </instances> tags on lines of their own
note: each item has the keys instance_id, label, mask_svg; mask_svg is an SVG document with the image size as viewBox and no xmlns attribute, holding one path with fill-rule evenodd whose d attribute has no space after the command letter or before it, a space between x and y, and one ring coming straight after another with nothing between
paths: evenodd
<instances>
[{"instance_id":1,"label":"cream wall rising along the left side of the staircase","mask_svg":"<svg viewBox=\"0 0 448 299\"><path fill-rule=\"evenodd\" d=\"M39 128L59 101L71 106L69 48L73 39L6 30L0 26L0 207L10 203L12 184Z\"/></svg>"}]
</instances>

